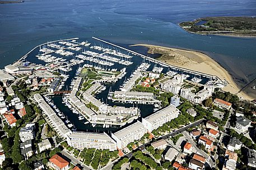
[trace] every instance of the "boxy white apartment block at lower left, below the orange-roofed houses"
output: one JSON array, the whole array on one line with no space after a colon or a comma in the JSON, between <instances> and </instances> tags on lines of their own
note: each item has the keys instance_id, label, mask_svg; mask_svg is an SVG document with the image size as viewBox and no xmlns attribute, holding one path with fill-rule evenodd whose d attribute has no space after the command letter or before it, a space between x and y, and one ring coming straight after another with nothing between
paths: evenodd
<instances>
[{"instance_id":1,"label":"boxy white apartment block at lower left, below the orange-roofed houses","mask_svg":"<svg viewBox=\"0 0 256 170\"><path fill-rule=\"evenodd\" d=\"M34 123L28 123L26 124L26 127L20 129L20 140L22 142L25 142L26 140L32 140L35 138L35 124Z\"/></svg>"}]
</instances>

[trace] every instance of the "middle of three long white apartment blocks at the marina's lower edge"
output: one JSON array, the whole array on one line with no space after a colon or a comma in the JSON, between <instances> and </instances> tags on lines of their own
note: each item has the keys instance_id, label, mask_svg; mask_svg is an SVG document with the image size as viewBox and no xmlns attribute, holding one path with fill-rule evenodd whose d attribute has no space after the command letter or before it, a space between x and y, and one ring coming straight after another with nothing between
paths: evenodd
<instances>
[{"instance_id":1,"label":"middle of three long white apartment blocks at the marina's lower edge","mask_svg":"<svg viewBox=\"0 0 256 170\"><path fill-rule=\"evenodd\" d=\"M118 132L112 133L111 137L117 142L117 147L123 149L134 140L141 139L146 133L146 127L141 122L136 122Z\"/></svg>"}]
</instances>

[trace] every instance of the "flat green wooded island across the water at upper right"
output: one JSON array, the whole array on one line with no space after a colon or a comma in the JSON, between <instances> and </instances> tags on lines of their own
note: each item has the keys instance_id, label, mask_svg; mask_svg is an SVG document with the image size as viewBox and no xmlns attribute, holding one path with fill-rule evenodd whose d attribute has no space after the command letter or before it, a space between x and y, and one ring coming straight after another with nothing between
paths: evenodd
<instances>
[{"instance_id":1,"label":"flat green wooded island across the water at upper right","mask_svg":"<svg viewBox=\"0 0 256 170\"><path fill-rule=\"evenodd\" d=\"M206 17L181 22L179 26L185 31L201 35L256 36L256 18L254 17Z\"/></svg>"}]
</instances>

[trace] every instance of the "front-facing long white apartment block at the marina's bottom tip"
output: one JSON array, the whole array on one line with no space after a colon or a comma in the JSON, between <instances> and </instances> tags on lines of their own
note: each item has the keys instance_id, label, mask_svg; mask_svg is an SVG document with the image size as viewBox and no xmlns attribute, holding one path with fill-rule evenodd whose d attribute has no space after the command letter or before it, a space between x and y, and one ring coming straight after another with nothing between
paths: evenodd
<instances>
[{"instance_id":1,"label":"front-facing long white apartment block at the marina's bottom tip","mask_svg":"<svg viewBox=\"0 0 256 170\"><path fill-rule=\"evenodd\" d=\"M117 150L117 143L106 133L74 132L67 135L68 145L76 149L83 148Z\"/></svg>"}]
</instances>

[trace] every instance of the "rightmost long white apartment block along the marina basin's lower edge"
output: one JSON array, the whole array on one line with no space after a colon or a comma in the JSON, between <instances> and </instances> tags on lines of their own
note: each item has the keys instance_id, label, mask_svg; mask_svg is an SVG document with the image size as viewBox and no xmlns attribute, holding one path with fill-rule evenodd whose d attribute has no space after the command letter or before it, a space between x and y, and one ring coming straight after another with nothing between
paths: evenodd
<instances>
[{"instance_id":1,"label":"rightmost long white apartment block along the marina basin's lower edge","mask_svg":"<svg viewBox=\"0 0 256 170\"><path fill-rule=\"evenodd\" d=\"M179 110L174 105L167 106L166 108L157 111L156 113L142 118L142 124L148 129L149 132L161 127L166 122L178 118Z\"/></svg>"}]
</instances>

